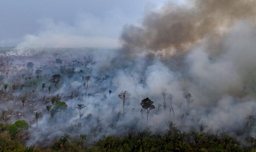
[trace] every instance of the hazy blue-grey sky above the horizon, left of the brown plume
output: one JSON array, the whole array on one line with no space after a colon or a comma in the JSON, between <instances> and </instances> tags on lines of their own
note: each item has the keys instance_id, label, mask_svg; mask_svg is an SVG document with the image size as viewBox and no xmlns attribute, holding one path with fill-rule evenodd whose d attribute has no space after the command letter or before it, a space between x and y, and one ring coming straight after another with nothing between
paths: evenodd
<instances>
[{"instance_id":1,"label":"hazy blue-grey sky above the horizon, left of the brown plume","mask_svg":"<svg viewBox=\"0 0 256 152\"><path fill-rule=\"evenodd\" d=\"M2 0L0 46L115 47L123 25L166 1Z\"/></svg>"}]
</instances>

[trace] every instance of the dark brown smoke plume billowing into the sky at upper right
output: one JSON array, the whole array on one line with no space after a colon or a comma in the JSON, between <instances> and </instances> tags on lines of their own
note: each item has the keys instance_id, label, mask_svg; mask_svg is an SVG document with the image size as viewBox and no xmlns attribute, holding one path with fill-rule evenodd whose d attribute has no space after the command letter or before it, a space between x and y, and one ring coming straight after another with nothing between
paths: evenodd
<instances>
[{"instance_id":1,"label":"dark brown smoke plume billowing into the sky at upper right","mask_svg":"<svg viewBox=\"0 0 256 152\"><path fill-rule=\"evenodd\" d=\"M206 37L218 39L236 21L256 14L254 0L193 0L186 5L168 3L148 11L141 26L126 25L121 41L126 51L139 48L165 54L182 54Z\"/></svg>"}]
</instances>

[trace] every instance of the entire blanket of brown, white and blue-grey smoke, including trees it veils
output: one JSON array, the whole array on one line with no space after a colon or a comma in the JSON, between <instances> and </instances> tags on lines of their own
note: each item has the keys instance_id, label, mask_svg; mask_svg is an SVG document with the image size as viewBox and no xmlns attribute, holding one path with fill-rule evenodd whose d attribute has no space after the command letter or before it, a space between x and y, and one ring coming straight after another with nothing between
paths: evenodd
<instances>
[{"instance_id":1,"label":"entire blanket of brown, white and blue-grey smoke, including trees it veils","mask_svg":"<svg viewBox=\"0 0 256 152\"><path fill-rule=\"evenodd\" d=\"M29 146L65 133L86 134L88 143L142 130L163 135L168 121L247 146L256 129L255 5L169 2L148 10L140 25L125 25L116 49L84 48L79 37L65 37L66 28L41 31L0 57L4 121L26 120ZM65 48L66 41L76 42ZM154 107L143 106L147 98Z\"/></svg>"}]
</instances>

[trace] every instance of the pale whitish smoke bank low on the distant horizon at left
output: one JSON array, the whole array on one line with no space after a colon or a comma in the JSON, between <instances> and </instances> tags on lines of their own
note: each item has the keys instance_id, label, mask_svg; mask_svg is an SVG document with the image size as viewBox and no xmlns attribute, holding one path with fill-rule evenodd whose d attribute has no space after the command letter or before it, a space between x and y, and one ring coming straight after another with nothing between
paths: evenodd
<instances>
[{"instance_id":1,"label":"pale whitish smoke bank low on the distant horizon at left","mask_svg":"<svg viewBox=\"0 0 256 152\"><path fill-rule=\"evenodd\" d=\"M16 46L22 53L37 48L116 48L118 40L111 37L113 30L106 20L95 16L80 14L72 25L54 22L52 19L40 19L41 30L24 36L23 42ZM101 26L104 26L102 29Z\"/></svg>"}]
</instances>

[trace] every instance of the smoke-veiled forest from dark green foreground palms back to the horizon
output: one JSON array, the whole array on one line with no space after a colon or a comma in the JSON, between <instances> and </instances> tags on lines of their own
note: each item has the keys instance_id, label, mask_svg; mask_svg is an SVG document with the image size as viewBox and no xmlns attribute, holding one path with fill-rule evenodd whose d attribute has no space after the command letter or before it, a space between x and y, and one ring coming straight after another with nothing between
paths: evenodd
<instances>
[{"instance_id":1,"label":"smoke-veiled forest from dark green foreground palms back to the horizon","mask_svg":"<svg viewBox=\"0 0 256 152\"><path fill-rule=\"evenodd\" d=\"M97 49L7 54L13 51L1 55L1 151L256 149L255 106L229 126L236 106L244 105L200 105L194 95L205 88L176 88L189 77L167 68L163 57L109 57L109 50ZM251 93L245 85L241 92ZM226 123L222 110L230 115Z\"/></svg>"}]
</instances>

